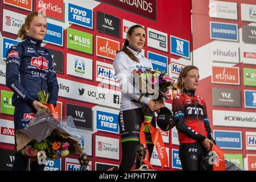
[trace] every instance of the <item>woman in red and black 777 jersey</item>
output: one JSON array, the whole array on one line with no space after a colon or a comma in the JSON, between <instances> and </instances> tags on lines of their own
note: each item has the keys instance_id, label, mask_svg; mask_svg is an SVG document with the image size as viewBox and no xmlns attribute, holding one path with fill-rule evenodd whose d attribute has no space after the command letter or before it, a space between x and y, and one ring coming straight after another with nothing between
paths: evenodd
<instances>
[{"instance_id":1,"label":"woman in red and black 777 jersey","mask_svg":"<svg viewBox=\"0 0 256 182\"><path fill-rule=\"evenodd\" d=\"M212 131L203 98L196 96L199 69L189 65L179 75L177 86L181 90L172 101L176 129L179 134L179 158L183 170L199 170L202 157L210 150Z\"/></svg>"}]
</instances>

